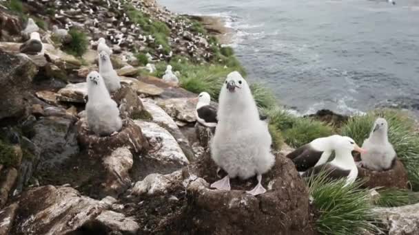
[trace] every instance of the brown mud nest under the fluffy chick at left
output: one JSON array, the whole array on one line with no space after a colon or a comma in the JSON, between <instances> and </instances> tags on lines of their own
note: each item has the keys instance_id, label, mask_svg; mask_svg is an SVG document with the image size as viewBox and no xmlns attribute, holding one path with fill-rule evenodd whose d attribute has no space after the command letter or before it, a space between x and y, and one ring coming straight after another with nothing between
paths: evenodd
<instances>
[{"instance_id":1,"label":"brown mud nest under the fluffy chick at left","mask_svg":"<svg viewBox=\"0 0 419 235\"><path fill-rule=\"evenodd\" d=\"M132 120L123 120L123 127L116 135L108 137L99 137L88 131L88 123L85 118L81 118L77 122L77 131L79 133L77 139L79 144L89 150L90 155L102 158L109 155L116 148L127 147L133 153L140 153L147 150L149 145L147 139L141 131L142 126L134 124Z\"/></svg>"}]
</instances>

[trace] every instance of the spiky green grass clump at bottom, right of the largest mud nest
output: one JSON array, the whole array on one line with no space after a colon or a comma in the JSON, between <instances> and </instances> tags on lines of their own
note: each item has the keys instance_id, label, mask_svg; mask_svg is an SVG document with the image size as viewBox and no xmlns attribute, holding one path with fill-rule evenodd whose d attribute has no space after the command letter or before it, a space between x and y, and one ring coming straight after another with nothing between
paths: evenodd
<instances>
[{"instance_id":1,"label":"spiky green grass clump at bottom, right of the largest mud nest","mask_svg":"<svg viewBox=\"0 0 419 235\"><path fill-rule=\"evenodd\" d=\"M320 212L316 230L320 234L352 235L364 231L380 232L374 225L376 215L369 202L369 190L362 189L362 181L345 186L346 179L331 180L326 174L307 178L309 195Z\"/></svg>"}]
</instances>

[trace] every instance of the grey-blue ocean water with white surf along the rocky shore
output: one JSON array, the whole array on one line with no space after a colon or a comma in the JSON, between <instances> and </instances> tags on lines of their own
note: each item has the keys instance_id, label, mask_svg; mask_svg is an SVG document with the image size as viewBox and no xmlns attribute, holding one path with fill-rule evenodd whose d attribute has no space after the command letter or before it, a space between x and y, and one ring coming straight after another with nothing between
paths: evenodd
<instances>
[{"instance_id":1,"label":"grey-blue ocean water with white surf along the rocky shore","mask_svg":"<svg viewBox=\"0 0 419 235\"><path fill-rule=\"evenodd\" d=\"M419 113L419 1L160 0L221 16L248 79L300 114L400 107Z\"/></svg>"}]
</instances>

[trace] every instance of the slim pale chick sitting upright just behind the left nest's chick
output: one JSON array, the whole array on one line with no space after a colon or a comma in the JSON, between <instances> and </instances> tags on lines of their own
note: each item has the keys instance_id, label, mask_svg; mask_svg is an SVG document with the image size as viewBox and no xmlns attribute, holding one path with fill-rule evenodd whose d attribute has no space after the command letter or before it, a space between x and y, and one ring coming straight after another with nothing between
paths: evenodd
<instances>
[{"instance_id":1,"label":"slim pale chick sitting upright just behind the left nest's chick","mask_svg":"<svg viewBox=\"0 0 419 235\"><path fill-rule=\"evenodd\" d=\"M109 54L105 51L99 54L99 73L103 80L105 80L105 85L109 92L121 88L121 78L116 74L114 67L112 67Z\"/></svg>"}]
</instances>

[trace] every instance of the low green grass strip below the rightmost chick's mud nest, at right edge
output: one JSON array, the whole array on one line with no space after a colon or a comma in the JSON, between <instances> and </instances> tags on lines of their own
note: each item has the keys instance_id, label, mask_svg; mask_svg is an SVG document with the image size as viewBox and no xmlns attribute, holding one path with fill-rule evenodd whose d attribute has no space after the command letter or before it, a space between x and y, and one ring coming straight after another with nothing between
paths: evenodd
<instances>
[{"instance_id":1,"label":"low green grass strip below the rightmost chick's mud nest, at right edge","mask_svg":"<svg viewBox=\"0 0 419 235\"><path fill-rule=\"evenodd\" d=\"M378 193L380 197L375 204L385 208L419 203L419 194L410 190L387 188L378 190Z\"/></svg>"}]
</instances>

